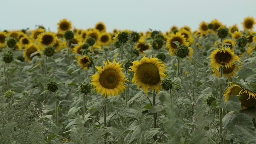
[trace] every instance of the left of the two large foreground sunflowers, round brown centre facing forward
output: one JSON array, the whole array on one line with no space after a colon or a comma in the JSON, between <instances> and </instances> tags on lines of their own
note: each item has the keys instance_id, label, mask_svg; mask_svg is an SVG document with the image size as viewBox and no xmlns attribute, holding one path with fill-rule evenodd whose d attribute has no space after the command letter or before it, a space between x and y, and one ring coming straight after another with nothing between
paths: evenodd
<instances>
[{"instance_id":1,"label":"left of the two large foreground sunflowers, round brown centre facing forward","mask_svg":"<svg viewBox=\"0 0 256 144\"><path fill-rule=\"evenodd\" d=\"M125 85L123 84L124 81L128 81L127 79L124 79L124 74L122 72L121 64L116 63L115 59L113 63L111 63L108 60L107 62L104 62L103 68L97 67L95 68L98 70L98 73L92 75L92 82L90 84L94 85L94 90L97 90L97 93L99 94L101 92L101 96L105 94L105 97L109 97L112 95L119 95L121 91L125 90ZM129 81L128 81L129 82Z\"/></svg>"}]
</instances>

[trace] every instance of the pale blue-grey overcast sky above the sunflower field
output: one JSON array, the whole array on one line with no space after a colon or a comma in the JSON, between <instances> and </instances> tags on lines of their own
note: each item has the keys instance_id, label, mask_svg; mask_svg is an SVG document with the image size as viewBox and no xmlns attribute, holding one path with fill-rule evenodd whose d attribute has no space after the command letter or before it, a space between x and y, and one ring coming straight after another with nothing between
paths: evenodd
<instances>
[{"instance_id":1,"label":"pale blue-grey overcast sky above the sunflower field","mask_svg":"<svg viewBox=\"0 0 256 144\"><path fill-rule=\"evenodd\" d=\"M201 21L214 18L242 29L247 16L256 19L256 0L0 0L1 31L35 25L57 31L63 18L82 29L102 21L109 32L114 28L165 32L173 25L196 30Z\"/></svg>"}]
</instances>

